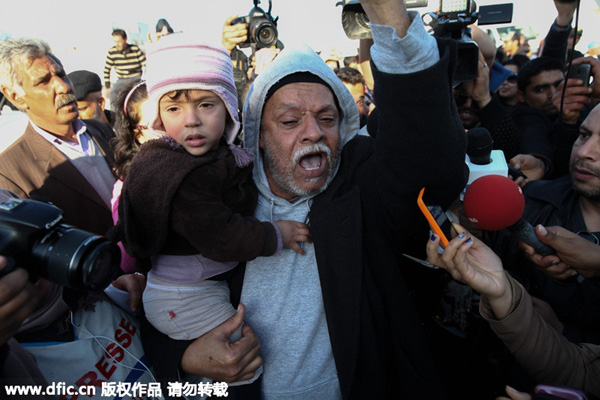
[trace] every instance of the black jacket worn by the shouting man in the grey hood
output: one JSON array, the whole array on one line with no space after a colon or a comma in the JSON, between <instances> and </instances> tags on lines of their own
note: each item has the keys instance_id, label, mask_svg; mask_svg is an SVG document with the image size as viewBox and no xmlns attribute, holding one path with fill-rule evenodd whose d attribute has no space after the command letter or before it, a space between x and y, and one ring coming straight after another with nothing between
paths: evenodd
<instances>
[{"instance_id":1,"label":"black jacket worn by the shouting man in the grey hood","mask_svg":"<svg viewBox=\"0 0 600 400\"><path fill-rule=\"evenodd\" d=\"M389 75L373 66L381 111L377 138L357 136L344 146L336 177L314 198L309 213L346 399L445 398L404 283L401 256L407 238L426 224L416 205L420 188L436 194L426 194L428 202L448 206L467 177L466 136L451 91L455 47L445 41L439 46L441 61L424 71ZM402 162L389 165L394 159ZM425 241L420 244L425 247ZM241 268L236 272L230 281L234 305L244 274ZM151 356L173 376L189 343L167 346L155 331L147 339L147 351L156 349Z\"/></svg>"}]
</instances>

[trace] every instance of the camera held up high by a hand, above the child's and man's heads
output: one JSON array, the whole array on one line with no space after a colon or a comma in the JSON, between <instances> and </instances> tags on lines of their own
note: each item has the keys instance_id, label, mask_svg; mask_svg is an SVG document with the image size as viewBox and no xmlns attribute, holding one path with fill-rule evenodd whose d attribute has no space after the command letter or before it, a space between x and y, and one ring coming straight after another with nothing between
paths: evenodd
<instances>
[{"instance_id":1,"label":"camera held up high by a hand, above the child's and man's heads","mask_svg":"<svg viewBox=\"0 0 600 400\"><path fill-rule=\"evenodd\" d=\"M269 0L269 11L265 12L258 7L259 0L254 0L254 7L248 15L238 17L231 21L231 25L248 24L248 39L238 44L240 47L253 46L254 49L272 47L277 44L277 18L271 15L271 0Z\"/></svg>"}]
</instances>

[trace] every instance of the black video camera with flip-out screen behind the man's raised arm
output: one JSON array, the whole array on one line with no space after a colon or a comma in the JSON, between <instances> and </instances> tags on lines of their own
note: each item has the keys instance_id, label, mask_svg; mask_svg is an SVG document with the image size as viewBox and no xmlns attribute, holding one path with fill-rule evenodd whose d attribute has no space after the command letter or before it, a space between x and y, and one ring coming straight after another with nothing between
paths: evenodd
<instances>
[{"instance_id":1,"label":"black video camera with flip-out screen behind the man's raised arm","mask_svg":"<svg viewBox=\"0 0 600 400\"><path fill-rule=\"evenodd\" d=\"M426 7L428 0L405 0L407 8ZM479 25L510 22L512 20L512 4L481 7L485 10L485 22L480 19ZM508 6L508 7L507 7ZM439 13L426 13L423 22L433 30L433 35L455 40L458 44L458 60L454 72L454 82L468 82L477 77L479 66L479 47L471 40L469 25L480 17L473 0L448 1L440 0ZM489 14L489 16L488 16ZM429 18L429 21L426 21ZM372 38L369 18L359 0L344 3L342 26L350 39Z\"/></svg>"}]
</instances>

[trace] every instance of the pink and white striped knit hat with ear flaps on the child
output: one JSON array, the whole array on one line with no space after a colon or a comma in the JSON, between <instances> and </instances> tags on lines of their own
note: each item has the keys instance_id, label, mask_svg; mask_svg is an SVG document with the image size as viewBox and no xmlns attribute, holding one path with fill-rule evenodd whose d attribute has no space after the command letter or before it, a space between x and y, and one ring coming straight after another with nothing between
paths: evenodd
<instances>
[{"instance_id":1,"label":"pink and white striped knit hat with ear flaps on the child","mask_svg":"<svg viewBox=\"0 0 600 400\"><path fill-rule=\"evenodd\" d=\"M165 93L185 89L210 90L221 98L231 117L225 127L225 139L231 144L240 122L233 64L225 47L198 42L185 33L173 33L153 44L146 57L148 101L156 113L151 116L150 129L165 133L158 112L159 100Z\"/></svg>"}]
</instances>

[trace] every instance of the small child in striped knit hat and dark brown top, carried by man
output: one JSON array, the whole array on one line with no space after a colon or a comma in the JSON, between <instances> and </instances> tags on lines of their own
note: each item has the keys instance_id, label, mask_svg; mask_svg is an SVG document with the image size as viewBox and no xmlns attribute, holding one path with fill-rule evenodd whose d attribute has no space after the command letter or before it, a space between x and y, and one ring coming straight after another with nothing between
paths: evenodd
<instances>
[{"instance_id":1,"label":"small child in striped knit hat and dark brown top, carried by man","mask_svg":"<svg viewBox=\"0 0 600 400\"><path fill-rule=\"evenodd\" d=\"M233 66L225 48L165 36L148 52L146 83L164 136L141 146L120 197L125 248L146 261L146 317L173 339L197 338L235 313L225 279L240 261L300 254L308 227L254 218L252 158L239 130ZM148 265L149 261L149 265ZM241 329L231 340L241 337ZM256 379L258 374L255 375Z\"/></svg>"}]
</instances>

